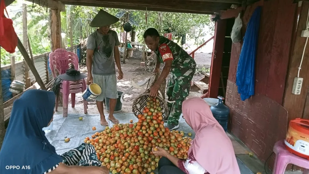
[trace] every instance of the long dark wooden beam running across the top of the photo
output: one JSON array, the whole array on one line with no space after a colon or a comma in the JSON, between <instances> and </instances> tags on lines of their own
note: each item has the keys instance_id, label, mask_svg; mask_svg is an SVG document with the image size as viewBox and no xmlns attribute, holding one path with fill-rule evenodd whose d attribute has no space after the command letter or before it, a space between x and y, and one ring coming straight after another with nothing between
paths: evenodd
<instances>
[{"instance_id":1,"label":"long dark wooden beam running across the top of the photo","mask_svg":"<svg viewBox=\"0 0 309 174\"><path fill-rule=\"evenodd\" d=\"M65 0L64 4L68 5L87 5L94 7L112 7L112 8L123 8L123 9L134 9L134 10L147 10L148 11L171 11L171 12L183 12L188 13L211 13L230 8L230 4L226 3L215 3L215 2L201 2L197 1L181 1L175 3L173 1L166 2L164 4L156 4L151 0L139 1L139 0Z\"/></svg>"}]
</instances>

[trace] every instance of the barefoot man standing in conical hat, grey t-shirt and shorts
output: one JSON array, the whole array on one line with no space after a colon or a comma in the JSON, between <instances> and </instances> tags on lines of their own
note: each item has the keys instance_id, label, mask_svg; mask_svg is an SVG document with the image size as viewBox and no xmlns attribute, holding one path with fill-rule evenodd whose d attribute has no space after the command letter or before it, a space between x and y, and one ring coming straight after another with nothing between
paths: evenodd
<instances>
[{"instance_id":1,"label":"barefoot man standing in conical hat, grey t-shirt and shorts","mask_svg":"<svg viewBox=\"0 0 309 174\"><path fill-rule=\"evenodd\" d=\"M118 21L119 19L115 16L104 10L100 10L90 23L91 27L98 29L89 35L87 40L87 85L96 83L102 89L102 93L96 98L96 105L100 113L102 126L108 126L108 122L104 116L104 97L110 98L108 120L115 124L119 123L113 113L118 98L117 79L121 80L123 73L121 71L120 53L118 49L120 42L117 33L110 29L110 25ZM119 74L117 78L114 59Z\"/></svg>"}]
</instances>

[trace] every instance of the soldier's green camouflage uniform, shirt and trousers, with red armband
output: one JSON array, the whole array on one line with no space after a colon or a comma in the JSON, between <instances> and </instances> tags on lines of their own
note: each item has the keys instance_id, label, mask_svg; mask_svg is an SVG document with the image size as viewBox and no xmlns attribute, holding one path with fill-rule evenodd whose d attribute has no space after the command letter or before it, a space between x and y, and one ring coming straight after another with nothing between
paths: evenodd
<instances>
[{"instance_id":1,"label":"soldier's green camouflage uniform, shirt and trousers, with red armband","mask_svg":"<svg viewBox=\"0 0 309 174\"><path fill-rule=\"evenodd\" d=\"M189 54L175 42L160 36L159 49L155 51L161 63L172 60L171 77L167 84L169 116L167 125L178 125L184 99L189 95L190 81L195 73L196 63Z\"/></svg>"}]
</instances>

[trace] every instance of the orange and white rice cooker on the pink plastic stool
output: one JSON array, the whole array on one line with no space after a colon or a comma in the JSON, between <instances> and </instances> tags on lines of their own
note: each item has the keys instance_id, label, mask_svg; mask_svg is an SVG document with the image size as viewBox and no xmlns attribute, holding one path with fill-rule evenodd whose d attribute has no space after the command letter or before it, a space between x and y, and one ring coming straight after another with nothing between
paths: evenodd
<instances>
[{"instance_id":1,"label":"orange and white rice cooker on the pink plastic stool","mask_svg":"<svg viewBox=\"0 0 309 174\"><path fill-rule=\"evenodd\" d=\"M309 120L291 120L284 143L291 153L309 159Z\"/></svg>"}]
</instances>

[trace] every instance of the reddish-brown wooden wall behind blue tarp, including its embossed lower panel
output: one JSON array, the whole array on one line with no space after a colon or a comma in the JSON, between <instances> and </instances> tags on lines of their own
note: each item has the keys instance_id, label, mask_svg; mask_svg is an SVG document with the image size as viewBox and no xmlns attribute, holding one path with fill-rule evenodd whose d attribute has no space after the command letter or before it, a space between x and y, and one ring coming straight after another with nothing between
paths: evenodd
<instances>
[{"instance_id":1,"label":"reddish-brown wooden wall behind blue tarp, including its embossed lower panel","mask_svg":"<svg viewBox=\"0 0 309 174\"><path fill-rule=\"evenodd\" d=\"M231 117L233 118L230 119L233 121L230 124L232 133L239 137L262 161L265 161L272 151L272 140L277 138L281 139L285 136L285 130L277 130L277 132L269 131L279 123L280 129L287 127L287 114L280 105L282 105L285 95L286 77L293 43L292 36L294 25L297 21L295 16L297 5L293 0L261 0L248 6L245 11L239 8L223 12L221 15L222 19L235 18L242 11L243 37L253 11L256 7L262 6L255 66L256 96L252 96L250 100L247 99L245 102L237 101L237 105L235 106L235 98L238 100L238 97L234 94L238 94L237 87L234 84L236 82L236 71L242 42L232 44L228 77L230 85L228 85L226 92L226 102L233 104L233 107L235 107L231 108L233 110L231 113ZM233 92L232 95L231 92ZM262 101L262 103L258 103L257 101ZM267 107L270 107L270 105L261 107L254 105L253 102L256 102L256 104L277 102L278 104L273 104L275 107L269 109ZM257 108L260 107L259 111L255 111L257 108L254 109L251 105ZM269 111L274 109L281 112L270 114ZM280 115L283 116L281 120L275 121ZM269 125L269 123L273 125ZM273 163L273 160L270 163Z\"/></svg>"}]
</instances>

